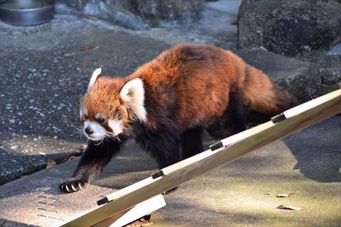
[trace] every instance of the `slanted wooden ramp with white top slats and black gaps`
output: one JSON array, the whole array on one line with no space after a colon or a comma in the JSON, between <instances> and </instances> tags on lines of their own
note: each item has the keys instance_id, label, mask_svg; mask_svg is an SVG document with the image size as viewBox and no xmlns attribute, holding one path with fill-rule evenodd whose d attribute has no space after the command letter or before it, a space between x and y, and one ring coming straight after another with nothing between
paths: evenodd
<instances>
[{"instance_id":1,"label":"slanted wooden ramp with white top slats and black gaps","mask_svg":"<svg viewBox=\"0 0 341 227\"><path fill-rule=\"evenodd\" d=\"M163 168L151 177L108 194L97 201L101 205L97 209L70 218L70 221L63 223L63 226L101 226L101 223L103 226L109 226L109 223L114 223L110 221L112 218L116 220L117 216L126 214L134 206L137 207L136 204L148 201L252 150L339 113L341 113L341 89L285 111L272 118L272 121L220 140L212 145L210 150ZM141 209L136 208L135 211L139 213ZM131 218L131 221L134 220Z\"/></svg>"}]
</instances>

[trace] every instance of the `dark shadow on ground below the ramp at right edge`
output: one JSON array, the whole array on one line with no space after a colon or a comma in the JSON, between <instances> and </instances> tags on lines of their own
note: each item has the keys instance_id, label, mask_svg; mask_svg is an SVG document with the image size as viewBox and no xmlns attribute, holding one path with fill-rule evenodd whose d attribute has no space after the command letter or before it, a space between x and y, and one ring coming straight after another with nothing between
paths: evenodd
<instances>
[{"instance_id":1,"label":"dark shadow on ground below the ramp at right edge","mask_svg":"<svg viewBox=\"0 0 341 227\"><path fill-rule=\"evenodd\" d=\"M317 182L341 182L341 116L284 138L295 156L295 170Z\"/></svg>"}]
</instances>

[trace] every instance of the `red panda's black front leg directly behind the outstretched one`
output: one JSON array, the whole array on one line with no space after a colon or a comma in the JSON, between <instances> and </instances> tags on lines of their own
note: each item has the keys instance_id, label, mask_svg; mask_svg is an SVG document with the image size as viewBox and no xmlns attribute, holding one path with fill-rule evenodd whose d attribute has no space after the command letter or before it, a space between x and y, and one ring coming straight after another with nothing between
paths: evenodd
<instances>
[{"instance_id":1,"label":"red panda's black front leg directly behind the outstretched one","mask_svg":"<svg viewBox=\"0 0 341 227\"><path fill-rule=\"evenodd\" d=\"M161 169L181 160L180 135L169 126L153 131L142 129L136 142L156 158Z\"/></svg>"}]
</instances>

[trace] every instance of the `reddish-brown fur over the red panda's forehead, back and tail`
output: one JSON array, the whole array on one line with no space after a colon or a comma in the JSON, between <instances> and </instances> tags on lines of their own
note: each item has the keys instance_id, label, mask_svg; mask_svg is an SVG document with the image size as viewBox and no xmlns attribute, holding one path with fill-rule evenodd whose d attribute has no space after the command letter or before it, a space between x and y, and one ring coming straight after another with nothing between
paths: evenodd
<instances>
[{"instance_id":1,"label":"reddish-brown fur over the red panda's forehead, back and tail","mask_svg":"<svg viewBox=\"0 0 341 227\"><path fill-rule=\"evenodd\" d=\"M137 77L144 83L148 128L157 128L161 122L179 131L205 126L222 116L233 87L244 104L264 114L275 115L298 103L232 52L211 45L183 44L162 52L129 77L99 77L81 102L90 120L102 113L109 117L119 114L124 123L133 121L134 114L126 109L119 92Z\"/></svg>"}]
</instances>

